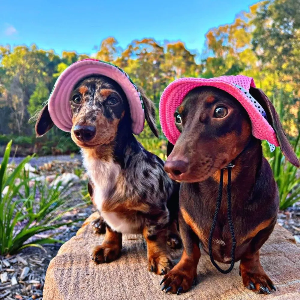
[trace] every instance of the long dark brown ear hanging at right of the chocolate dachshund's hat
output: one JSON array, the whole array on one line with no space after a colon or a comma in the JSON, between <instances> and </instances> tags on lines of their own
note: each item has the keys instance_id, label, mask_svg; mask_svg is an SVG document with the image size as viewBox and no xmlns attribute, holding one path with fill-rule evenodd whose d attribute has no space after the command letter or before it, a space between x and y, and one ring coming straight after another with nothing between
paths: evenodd
<instances>
[{"instance_id":1,"label":"long dark brown ear hanging at right of the chocolate dachshund's hat","mask_svg":"<svg viewBox=\"0 0 300 300\"><path fill-rule=\"evenodd\" d=\"M250 88L250 94L262 105L268 118L269 124L273 127L276 137L283 155L287 160L296 167L299 167L299 160L295 155L289 141L283 131L279 116L273 106L272 102L268 99L265 93L259 88Z\"/></svg>"}]
</instances>

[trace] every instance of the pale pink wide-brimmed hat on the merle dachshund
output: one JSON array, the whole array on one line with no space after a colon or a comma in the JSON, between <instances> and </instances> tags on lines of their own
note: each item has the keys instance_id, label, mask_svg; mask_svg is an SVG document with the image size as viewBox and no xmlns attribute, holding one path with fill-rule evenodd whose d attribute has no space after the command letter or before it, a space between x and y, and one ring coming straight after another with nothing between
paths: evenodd
<instances>
[{"instance_id":1,"label":"pale pink wide-brimmed hat on the merle dachshund","mask_svg":"<svg viewBox=\"0 0 300 300\"><path fill-rule=\"evenodd\" d=\"M80 80L91 75L107 76L121 86L130 108L132 131L134 134L140 134L145 124L145 113L143 99L137 86L121 68L98 59L76 61L58 77L48 100L48 110L53 123L63 131L71 131L71 93Z\"/></svg>"}]
</instances>

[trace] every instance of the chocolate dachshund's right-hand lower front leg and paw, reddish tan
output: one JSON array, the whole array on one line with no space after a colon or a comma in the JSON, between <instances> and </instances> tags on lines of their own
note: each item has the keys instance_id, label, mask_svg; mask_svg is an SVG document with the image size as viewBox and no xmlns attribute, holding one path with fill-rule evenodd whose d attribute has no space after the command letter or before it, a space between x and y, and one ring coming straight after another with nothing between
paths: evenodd
<instances>
[{"instance_id":1,"label":"chocolate dachshund's right-hand lower front leg and paw, reddish tan","mask_svg":"<svg viewBox=\"0 0 300 300\"><path fill-rule=\"evenodd\" d=\"M253 256L243 257L240 263L240 274L247 289L260 294L270 294L276 288L272 280L265 274L259 261L259 251Z\"/></svg>"}]
</instances>

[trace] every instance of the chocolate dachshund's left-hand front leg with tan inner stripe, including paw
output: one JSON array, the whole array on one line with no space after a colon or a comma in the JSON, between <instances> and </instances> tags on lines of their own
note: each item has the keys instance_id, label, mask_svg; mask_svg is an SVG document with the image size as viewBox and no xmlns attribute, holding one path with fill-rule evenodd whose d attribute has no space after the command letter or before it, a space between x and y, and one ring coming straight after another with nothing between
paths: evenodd
<instances>
[{"instance_id":1,"label":"chocolate dachshund's left-hand front leg with tan inner stripe, including paw","mask_svg":"<svg viewBox=\"0 0 300 300\"><path fill-rule=\"evenodd\" d=\"M200 259L199 238L184 222L179 213L179 228L182 236L183 253L179 263L164 276L161 290L177 293L186 292L197 277L197 265Z\"/></svg>"}]
</instances>

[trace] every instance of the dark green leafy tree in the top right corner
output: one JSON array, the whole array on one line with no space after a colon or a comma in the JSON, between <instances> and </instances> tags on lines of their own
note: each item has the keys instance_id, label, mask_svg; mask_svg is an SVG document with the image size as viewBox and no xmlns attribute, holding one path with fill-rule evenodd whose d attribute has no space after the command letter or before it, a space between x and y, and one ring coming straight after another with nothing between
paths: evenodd
<instances>
[{"instance_id":1,"label":"dark green leafy tree in the top right corner","mask_svg":"<svg viewBox=\"0 0 300 300\"><path fill-rule=\"evenodd\" d=\"M299 92L300 0L268 0L252 21L253 49L263 67L276 72ZM300 95L300 94L299 94Z\"/></svg>"}]
</instances>

